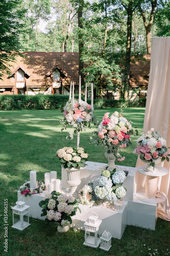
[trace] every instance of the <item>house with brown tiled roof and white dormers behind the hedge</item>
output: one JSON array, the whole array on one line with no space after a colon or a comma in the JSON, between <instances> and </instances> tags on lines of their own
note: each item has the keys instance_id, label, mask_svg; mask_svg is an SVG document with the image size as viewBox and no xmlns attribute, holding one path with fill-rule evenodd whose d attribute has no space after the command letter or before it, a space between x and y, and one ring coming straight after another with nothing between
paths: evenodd
<instances>
[{"instance_id":1,"label":"house with brown tiled roof and white dormers behind the hedge","mask_svg":"<svg viewBox=\"0 0 170 256\"><path fill-rule=\"evenodd\" d=\"M11 75L0 80L1 94L68 94L70 81L76 93L79 85L79 53L21 52L11 62ZM131 63L131 87L146 90L150 72L150 55L146 61Z\"/></svg>"}]
</instances>

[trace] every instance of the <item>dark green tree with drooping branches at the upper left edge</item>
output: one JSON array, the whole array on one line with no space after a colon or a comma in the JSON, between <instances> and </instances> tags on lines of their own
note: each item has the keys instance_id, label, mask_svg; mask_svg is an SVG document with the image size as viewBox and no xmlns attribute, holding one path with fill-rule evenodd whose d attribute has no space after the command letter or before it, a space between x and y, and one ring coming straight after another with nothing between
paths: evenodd
<instances>
[{"instance_id":1,"label":"dark green tree with drooping branches at the upper left edge","mask_svg":"<svg viewBox=\"0 0 170 256\"><path fill-rule=\"evenodd\" d=\"M10 74L9 61L15 61L19 50L19 33L23 26L20 0L0 2L0 79Z\"/></svg>"}]
</instances>

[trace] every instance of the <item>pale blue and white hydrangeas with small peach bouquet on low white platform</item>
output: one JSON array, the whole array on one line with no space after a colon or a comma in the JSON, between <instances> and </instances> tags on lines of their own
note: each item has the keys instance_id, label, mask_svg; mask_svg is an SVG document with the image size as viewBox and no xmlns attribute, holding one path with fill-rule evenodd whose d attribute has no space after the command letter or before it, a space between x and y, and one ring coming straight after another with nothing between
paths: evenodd
<instances>
[{"instance_id":1,"label":"pale blue and white hydrangeas with small peach bouquet on low white platform","mask_svg":"<svg viewBox=\"0 0 170 256\"><path fill-rule=\"evenodd\" d=\"M102 175L98 179L98 186L93 187L93 183L84 186L79 191L79 199L81 204L93 205L101 200L111 203L125 197L127 189L123 186L126 174L123 170L103 170Z\"/></svg>"}]
</instances>

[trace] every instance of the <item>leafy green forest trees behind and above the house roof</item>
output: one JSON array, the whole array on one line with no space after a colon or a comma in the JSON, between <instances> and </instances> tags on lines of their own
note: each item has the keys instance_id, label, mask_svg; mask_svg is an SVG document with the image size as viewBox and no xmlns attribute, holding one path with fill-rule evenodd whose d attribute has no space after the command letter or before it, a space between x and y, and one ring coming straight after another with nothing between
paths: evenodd
<instances>
[{"instance_id":1,"label":"leafy green forest trees behind and above the house roof","mask_svg":"<svg viewBox=\"0 0 170 256\"><path fill-rule=\"evenodd\" d=\"M100 97L107 85L126 99L131 62L151 54L151 37L170 36L168 0L1 0L0 8L0 79L19 51L79 52L82 84L94 82Z\"/></svg>"}]
</instances>

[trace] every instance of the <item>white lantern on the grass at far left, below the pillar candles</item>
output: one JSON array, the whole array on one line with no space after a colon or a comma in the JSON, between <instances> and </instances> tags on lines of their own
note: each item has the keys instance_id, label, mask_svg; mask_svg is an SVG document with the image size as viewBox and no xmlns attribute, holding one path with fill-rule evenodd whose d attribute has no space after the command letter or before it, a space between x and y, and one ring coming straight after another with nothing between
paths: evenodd
<instances>
[{"instance_id":1,"label":"white lantern on the grass at far left, below the pillar candles","mask_svg":"<svg viewBox=\"0 0 170 256\"><path fill-rule=\"evenodd\" d=\"M21 197L23 198L23 197ZM19 199L21 199L19 198ZM23 230L28 227L29 224L29 205L26 205L23 201L17 201L16 205L12 208L12 217L13 217L13 228Z\"/></svg>"}]
</instances>

